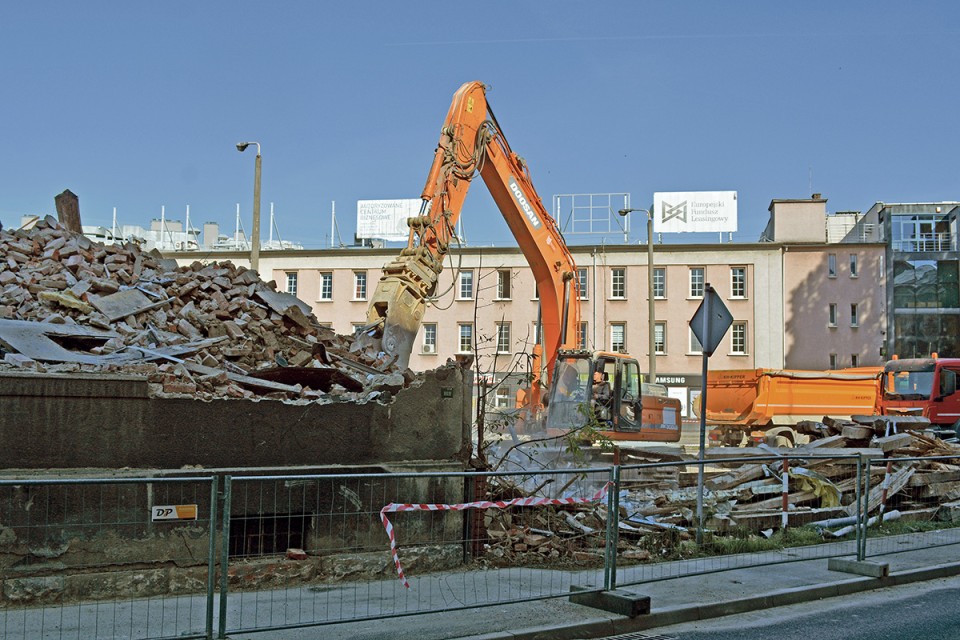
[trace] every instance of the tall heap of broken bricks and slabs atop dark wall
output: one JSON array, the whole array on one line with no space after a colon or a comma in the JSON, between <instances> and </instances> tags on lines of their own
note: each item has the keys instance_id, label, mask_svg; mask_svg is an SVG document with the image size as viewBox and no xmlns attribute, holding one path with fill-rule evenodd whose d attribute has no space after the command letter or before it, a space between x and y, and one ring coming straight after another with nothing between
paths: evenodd
<instances>
[{"instance_id":1,"label":"tall heap of broken bricks and slabs atop dark wall","mask_svg":"<svg viewBox=\"0 0 960 640\"><path fill-rule=\"evenodd\" d=\"M0 369L147 376L157 393L365 401L412 374L230 262L178 267L52 217L0 230Z\"/></svg>"}]
</instances>

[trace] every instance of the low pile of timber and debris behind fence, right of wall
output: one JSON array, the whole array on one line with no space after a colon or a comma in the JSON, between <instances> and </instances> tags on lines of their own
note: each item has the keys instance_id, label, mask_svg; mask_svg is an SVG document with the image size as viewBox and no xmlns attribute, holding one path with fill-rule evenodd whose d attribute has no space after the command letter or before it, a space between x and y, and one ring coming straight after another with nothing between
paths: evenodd
<instances>
[{"instance_id":1,"label":"low pile of timber and debris behind fence, right of wall","mask_svg":"<svg viewBox=\"0 0 960 640\"><path fill-rule=\"evenodd\" d=\"M871 518L960 520L960 445L932 436L928 427L923 418L824 418L796 425L809 442L795 448L707 449L704 526L717 535L760 536L786 522L791 528L813 525L826 539L847 535L857 515L858 458L871 462ZM678 453L669 464L654 466L650 463L667 462L669 456L656 448L650 455L642 448L623 455L629 459L621 471L618 525L625 557L648 559L652 540L691 539L699 475L699 465L691 464L695 456ZM649 466L629 466L638 463ZM509 490L543 497L539 490L547 484L531 491L511 483ZM586 559L602 548L605 523L603 504L488 513L487 561L555 558L557 552Z\"/></svg>"}]
</instances>

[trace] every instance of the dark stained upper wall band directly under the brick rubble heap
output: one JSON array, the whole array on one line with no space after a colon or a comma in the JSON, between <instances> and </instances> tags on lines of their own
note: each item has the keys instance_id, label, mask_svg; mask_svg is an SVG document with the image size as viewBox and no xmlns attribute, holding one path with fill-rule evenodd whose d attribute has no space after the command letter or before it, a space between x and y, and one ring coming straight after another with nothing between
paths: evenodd
<instances>
[{"instance_id":1,"label":"dark stained upper wall band directly under the brick rubble heap","mask_svg":"<svg viewBox=\"0 0 960 640\"><path fill-rule=\"evenodd\" d=\"M0 467L466 463L469 375L446 365L361 404L151 397L129 375L0 373Z\"/></svg>"}]
</instances>

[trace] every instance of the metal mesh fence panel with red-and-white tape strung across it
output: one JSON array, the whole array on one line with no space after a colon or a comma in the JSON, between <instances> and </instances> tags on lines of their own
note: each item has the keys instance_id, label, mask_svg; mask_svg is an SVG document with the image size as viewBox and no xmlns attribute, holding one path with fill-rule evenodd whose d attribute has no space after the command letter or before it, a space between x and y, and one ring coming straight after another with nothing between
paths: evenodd
<instances>
[{"instance_id":1,"label":"metal mesh fence panel with red-and-white tape strung across it","mask_svg":"<svg viewBox=\"0 0 960 640\"><path fill-rule=\"evenodd\" d=\"M527 473L229 478L220 635L599 591L610 477L538 472L535 491Z\"/></svg>"}]
</instances>

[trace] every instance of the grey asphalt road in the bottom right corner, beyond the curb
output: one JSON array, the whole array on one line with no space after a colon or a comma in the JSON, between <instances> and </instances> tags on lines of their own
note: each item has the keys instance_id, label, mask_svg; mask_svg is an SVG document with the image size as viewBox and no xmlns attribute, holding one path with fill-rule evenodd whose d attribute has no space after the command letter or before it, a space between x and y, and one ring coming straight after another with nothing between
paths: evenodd
<instances>
[{"instance_id":1,"label":"grey asphalt road in the bottom right corner, beyond the curb","mask_svg":"<svg viewBox=\"0 0 960 640\"><path fill-rule=\"evenodd\" d=\"M677 640L956 640L960 577L661 627L644 635Z\"/></svg>"}]
</instances>

